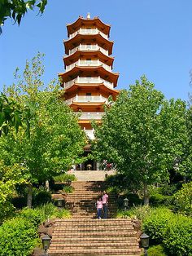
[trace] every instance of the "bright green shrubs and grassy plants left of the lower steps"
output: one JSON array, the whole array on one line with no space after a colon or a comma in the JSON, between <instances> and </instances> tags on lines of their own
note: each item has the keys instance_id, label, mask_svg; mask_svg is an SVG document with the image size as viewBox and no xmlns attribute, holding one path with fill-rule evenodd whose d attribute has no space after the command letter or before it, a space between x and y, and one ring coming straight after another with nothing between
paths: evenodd
<instances>
[{"instance_id":1,"label":"bright green shrubs and grassy plants left of the lower steps","mask_svg":"<svg viewBox=\"0 0 192 256\"><path fill-rule=\"evenodd\" d=\"M59 210L53 204L36 209L25 208L15 218L0 227L0 255L28 256L38 243L37 227L47 218L70 218L68 210Z\"/></svg>"}]
</instances>

